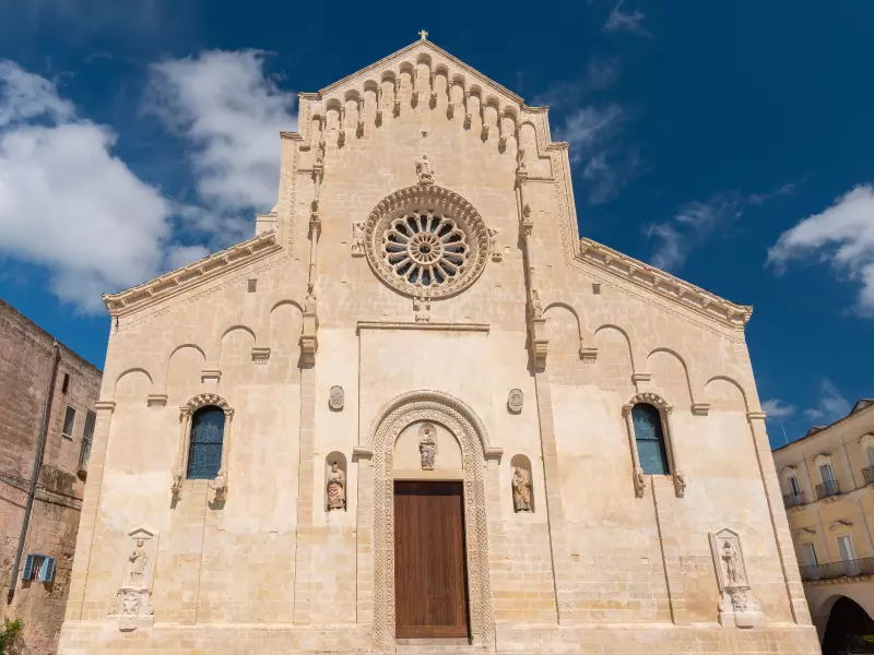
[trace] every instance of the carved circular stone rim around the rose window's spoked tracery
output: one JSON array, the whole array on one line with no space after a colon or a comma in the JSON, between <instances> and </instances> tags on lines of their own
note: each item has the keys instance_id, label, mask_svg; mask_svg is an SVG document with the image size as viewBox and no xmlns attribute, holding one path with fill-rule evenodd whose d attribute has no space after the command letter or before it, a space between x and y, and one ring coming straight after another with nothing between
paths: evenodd
<instances>
[{"instance_id":1,"label":"carved circular stone rim around the rose window's spoked tracery","mask_svg":"<svg viewBox=\"0 0 874 655\"><path fill-rule=\"evenodd\" d=\"M464 270L458 277L427 287L399 277L382 253L382 235L391 222L422 209L435 210L450 217L464 231L470 248ZM370 269L389 287L412 297L446 298L470 287L485 270L489 243L488 228L473 205L454 191L437 184L415 184L389 194L374 207L364 227L364 252Z\"/></svg>"}]
</instances>

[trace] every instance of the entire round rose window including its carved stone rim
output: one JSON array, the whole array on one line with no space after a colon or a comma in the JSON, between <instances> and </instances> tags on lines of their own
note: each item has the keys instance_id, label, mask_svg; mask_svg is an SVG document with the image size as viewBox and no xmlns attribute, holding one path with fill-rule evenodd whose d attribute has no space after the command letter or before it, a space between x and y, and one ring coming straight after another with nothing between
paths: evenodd
<instances>
[{"instance_id":1,"label":"entire round rose window including its carved stone rim","mask_svg":"<svg viewBox=\"0 0 874 655\"><path fill-rule=\"evenodd\" d=\"M394 290L441 298L480 276L489 239L488 228L466 200L420 183L392 193L374 209L365 224L364 251L374 272Z\"/></svg>"}]
</instances>

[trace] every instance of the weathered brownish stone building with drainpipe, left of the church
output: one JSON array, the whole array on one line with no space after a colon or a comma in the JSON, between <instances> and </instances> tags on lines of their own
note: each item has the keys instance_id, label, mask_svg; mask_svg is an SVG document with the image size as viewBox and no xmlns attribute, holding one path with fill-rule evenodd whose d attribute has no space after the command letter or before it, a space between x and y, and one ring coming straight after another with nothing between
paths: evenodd
<instances>
[{"instance_id":1,"label":"weathered brownish stone building with drainpipe, left of the church","mask_svg":"<svg viewBox=\"0 0 874 655\"><path fill-rule=\"evenodd\" d=\"M0 616L24 624L21 653L57 652L99 391L98 369L0 300Z\"/></svg>"}]
</instances>

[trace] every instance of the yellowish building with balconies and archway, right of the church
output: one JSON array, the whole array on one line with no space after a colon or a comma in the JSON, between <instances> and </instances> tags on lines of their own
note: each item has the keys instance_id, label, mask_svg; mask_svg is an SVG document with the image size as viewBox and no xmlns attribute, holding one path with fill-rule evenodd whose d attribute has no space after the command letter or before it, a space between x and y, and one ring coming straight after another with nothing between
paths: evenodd
<instances>
[{"instance_id":1,"label":"yellowish building with balconies and archway, right of the church","mask_svg":"<svg viewBox=\"0 0 874 655\"><path fill-rule=\"evenodd\" d=\"M773 462L804 593L820 638L841 598L858 604L870 621L874 617L874 401L859 401L840 420L812 428L803 439L775 450Z\"/></svg>"}]
</instances>

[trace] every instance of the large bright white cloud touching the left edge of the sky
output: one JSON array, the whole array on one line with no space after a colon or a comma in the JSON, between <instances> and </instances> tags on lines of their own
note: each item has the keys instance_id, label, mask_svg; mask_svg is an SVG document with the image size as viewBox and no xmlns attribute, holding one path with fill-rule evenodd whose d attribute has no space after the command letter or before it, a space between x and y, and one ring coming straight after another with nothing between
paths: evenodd
<instances>
[{"instance_id":1,"label":"large bright white cloud touching the left edge of the sky","mask_svg":"<svg viewBox=\"0 0 874 655\"><path fill-rule=\"evenodd\" d=\"M0 253L46 266L84 311L176 258L173 205L113 155L115 133L76 118L44 78L0 62Z\"/></svg>"}]
</instances>

